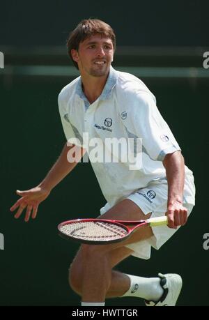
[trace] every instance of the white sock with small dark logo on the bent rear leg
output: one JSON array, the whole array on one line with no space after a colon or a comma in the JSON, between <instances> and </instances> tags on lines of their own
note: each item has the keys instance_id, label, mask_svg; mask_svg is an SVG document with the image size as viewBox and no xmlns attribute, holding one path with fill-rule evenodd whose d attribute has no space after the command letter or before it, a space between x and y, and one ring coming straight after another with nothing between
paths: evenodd
<instances>
[{"instance_id":1,"label":"white sock with small dark logo on the bent rear leg","mask_svg":"<svg viewBox=\"0 0 209 320\"><path fill-rule=\"evenodd\" d=\"M148 301L157 301L163 294L159 277L137 277L127 275L130 278L130 289L123 294L125 296L144 298Z\"/></svg>"}]
</instances>

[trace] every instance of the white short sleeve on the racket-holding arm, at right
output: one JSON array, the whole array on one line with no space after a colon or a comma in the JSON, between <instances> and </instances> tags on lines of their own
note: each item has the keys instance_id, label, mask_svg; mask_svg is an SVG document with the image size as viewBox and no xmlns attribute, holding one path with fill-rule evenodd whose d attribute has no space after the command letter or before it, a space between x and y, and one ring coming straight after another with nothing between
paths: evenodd
<instances>
[{"instance_id":1,"label":"white short sleeve on the racket-holding arm, at right","mask_svg":"<svg viewBox=\"0 0 209 320\"><path fill-rule=\"evenodd\" d=\"M142 139L142 151L162 161L167 153L180 150L175 137L149 93L134 93L124 124L127 131Z\"/></svg>"}]
</instances>

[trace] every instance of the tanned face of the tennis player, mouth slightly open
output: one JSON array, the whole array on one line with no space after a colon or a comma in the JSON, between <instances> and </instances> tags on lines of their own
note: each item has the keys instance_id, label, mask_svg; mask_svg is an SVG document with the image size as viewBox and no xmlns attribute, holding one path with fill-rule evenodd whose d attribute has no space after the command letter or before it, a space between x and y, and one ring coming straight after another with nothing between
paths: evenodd
<instances>
[{"instance_id":1,"label":"tanned face of the tennis player, mouth slightly open","mask_svg":"<svg viewBox=\"0 0 209 320\"><path fill-rule=\"evenodd\" d=\"M114 46L110 38L96 33L72 49L72 58L77 62L81 75L102 77L109 73L113 61Z\"/></svg>"}]
</instances>

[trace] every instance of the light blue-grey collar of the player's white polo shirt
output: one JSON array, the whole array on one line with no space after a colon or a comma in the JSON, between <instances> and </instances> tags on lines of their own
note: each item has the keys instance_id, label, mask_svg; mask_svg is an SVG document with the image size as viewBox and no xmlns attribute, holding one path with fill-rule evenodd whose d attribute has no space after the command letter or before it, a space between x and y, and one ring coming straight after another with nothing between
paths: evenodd
<instances>
[{"instance_id":1,"label":"light blue-grey collar of the player's white polo shirt","mask_svg":"<svg viewBox=\"0 0 209 320\"><path fill-rule=\"evenodd\" d=\"M114 86L116 85L117 78L118 78L118 75L116 73L116 70L114 70L114 68L112 68L112 66L110 66L109 75L107 77L107 82L106 82L104 89L103 89L102 93L100 94L98 100L109 99L109 97L111 95L111 91L114 88ZM79 81L77 82L75 93L77 93L77 95L80 98L82 98L82 100L84 100L85 102L88 101L86 96L84 95L84 91L82 89L82 77L79 77Z\"/></svg>"}]
</instances>

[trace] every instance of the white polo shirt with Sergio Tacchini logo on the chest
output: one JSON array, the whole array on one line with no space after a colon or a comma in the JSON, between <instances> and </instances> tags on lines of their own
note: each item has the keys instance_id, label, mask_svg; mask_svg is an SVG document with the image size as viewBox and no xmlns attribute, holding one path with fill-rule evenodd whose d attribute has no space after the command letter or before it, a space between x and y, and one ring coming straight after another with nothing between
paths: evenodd
<instances>
[{"instance_id":1,"label":"white polo shirt with Sergio Tacchini logo on the chest","mask_svg":"<svg viewBox=\"0 0 209 320\"><path fill-rule=\"evenodd\" d=\"M123 161L119 157L115 162L104 161L104 157L97 162L91 159L110 207L139 188L165 182L162 160L167 153L178 151L180 147L156 107L155 96L134 75L111 67L102 94L91 105L82 91L81 77L77 77L61 90L59 112L67 140L76 137L79 139L77 144L86 148L82 137L84 132L88 132L91 142L88 154L93 151L95 138L100 141L100 146L93 151L94 155L98 150L102 153L103 147L109 150L107 138L133 141L132 156L141 157L137 169L130 169L132 162L128 158ZM137 146L137 138L141 139L138 140L142 145ZM114 157L114 151L109 153ZM186 174L192 174L187 167L185 170ZM185 200L191 203L191 199Z\"/></svg>"}]
</instances>

